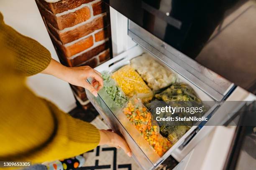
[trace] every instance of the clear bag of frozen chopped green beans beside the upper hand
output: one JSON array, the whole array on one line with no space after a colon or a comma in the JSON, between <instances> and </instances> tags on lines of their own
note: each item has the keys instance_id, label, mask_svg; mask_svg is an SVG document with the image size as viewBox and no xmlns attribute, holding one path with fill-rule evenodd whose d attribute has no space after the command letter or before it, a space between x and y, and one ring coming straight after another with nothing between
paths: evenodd
<instances>
[{"instance_id":1,"label":"clear bag of frozen chopped green beans beside the upper hand","mask_svg":"<svg viewBox=\"0 0 256 170\"><path fill-rule=\"evenodd\" d=\"M103 78L103 89L108 93L110 98L115 102L118 107L123 107L124 103L127 102L124 92L118 87L115 80L110 77L110 73L107 71L102 72Z\"/></svg>"}]
</instances>

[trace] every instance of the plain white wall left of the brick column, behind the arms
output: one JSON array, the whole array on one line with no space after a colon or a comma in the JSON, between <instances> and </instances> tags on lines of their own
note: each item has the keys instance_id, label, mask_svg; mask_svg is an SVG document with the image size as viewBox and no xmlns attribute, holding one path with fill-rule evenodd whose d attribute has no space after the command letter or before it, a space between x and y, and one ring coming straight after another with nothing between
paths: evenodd
<instances>
[{"instance_id":1,"label":"plain white wall left of the brick column, behind the arms","mask_svg":"<svg viewBox=\"0 0 256 170\"><path fill-rule=\"evenodd\" d=\"M51 52L52 58L59 61L35 0L0 0L0 12L7 25L40 42ZM38 74L28 77L27 84L37 95L51 100L65 112L76 106L67 82Z\"/></svg>"}]
</instances>

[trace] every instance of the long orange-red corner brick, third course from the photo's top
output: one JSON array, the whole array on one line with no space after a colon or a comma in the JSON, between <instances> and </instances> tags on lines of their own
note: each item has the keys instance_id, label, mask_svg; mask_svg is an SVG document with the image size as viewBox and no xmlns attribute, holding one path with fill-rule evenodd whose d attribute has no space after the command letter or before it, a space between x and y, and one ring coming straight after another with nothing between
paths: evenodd
<instances>
[{"instance_id":1,"label":"long orange-red corner brick, third course from the photo's top","mask_svg":"<svg viewBox=\"0 0 256 170\"><path fill-rule=\"evenodd\" d=\"M77 28L66 32L60 32L54 29L51 25L49 25L50 31L55 35L55 37L60 40L63 44L68 42L72 42L81 37L84 37L95 30L100 28L104 28L106 26L106 15L102 17L95 18L90 23L83 24Z\"/></svg>"}]
</instances>

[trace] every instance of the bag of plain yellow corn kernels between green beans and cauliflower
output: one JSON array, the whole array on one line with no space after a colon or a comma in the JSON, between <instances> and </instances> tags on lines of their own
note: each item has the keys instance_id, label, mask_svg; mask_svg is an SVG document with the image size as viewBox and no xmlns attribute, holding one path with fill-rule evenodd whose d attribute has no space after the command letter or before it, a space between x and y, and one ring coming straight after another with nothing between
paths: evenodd
<instances>
[{"instance_id":1,"label":"bag of plain yellow corn kernels between green beans and cauliflower","mask_svg":"<svg viewBox=\"0 0 256 170\"><path fill-rule=\"evenodd\" d=\"M125 65L113 72L111 76L123 90L126 96L136 95L143 102L148 102L153 97L153 92L143 81L141 76L130 65Z\"/></svg>"}]
</instances>

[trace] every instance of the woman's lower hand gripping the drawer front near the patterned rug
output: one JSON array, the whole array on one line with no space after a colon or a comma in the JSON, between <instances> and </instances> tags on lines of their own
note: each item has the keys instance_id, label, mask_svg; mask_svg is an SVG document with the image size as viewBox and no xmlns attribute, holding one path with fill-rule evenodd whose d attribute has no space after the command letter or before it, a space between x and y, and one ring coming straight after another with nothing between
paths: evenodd
<instances>
[{"instance_id":1,"label":"woman's lower hand gripping the drawer front near the patterned rug","mask_svg":"<svg viewBox=\"0 0 256 170\"><path fill-rule=\"evenodd\" d=\"M100 130L100 143L99 145L109 145L115 148L122 148L125 153L131 157L131 150L128 144L118 134L112 130Z\"/></svg>"}]
</instances>

